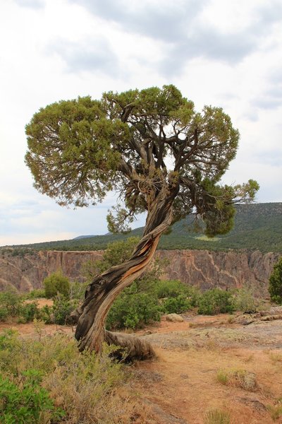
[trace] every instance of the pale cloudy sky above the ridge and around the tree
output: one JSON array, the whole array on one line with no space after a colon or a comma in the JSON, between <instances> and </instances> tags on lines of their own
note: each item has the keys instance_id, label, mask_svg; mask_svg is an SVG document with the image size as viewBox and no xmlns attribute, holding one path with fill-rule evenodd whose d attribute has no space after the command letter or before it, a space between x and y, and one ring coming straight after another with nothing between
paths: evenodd
<instances>
[{"instance_id":1,"label":"pale cloudy sky above the ridge and around the tree","mask_svg":"<svg viewBox=\"0 0 282 424\"><path fill-rule=\"evenodd\" d=\"M0 40L0 246L107 232L115 194L62 208L24 155L40 107L109 90L173 83L199 111L223 107L240 131L223 182L282 201L281 0L1 0Z\"/></svg>"}]
</instances>

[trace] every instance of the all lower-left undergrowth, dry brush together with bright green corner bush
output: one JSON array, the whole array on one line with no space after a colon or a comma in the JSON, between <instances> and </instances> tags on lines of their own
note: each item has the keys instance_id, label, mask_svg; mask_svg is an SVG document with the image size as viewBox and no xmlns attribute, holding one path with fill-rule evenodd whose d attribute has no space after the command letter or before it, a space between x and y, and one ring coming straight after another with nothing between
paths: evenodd
<instances>
[{"instance_id":1,"label":"all lower-left undergrowth, dry brush together with bright green corner bush","mask_svg":"<svg viewBox=\"0 0 282 424\"><path fill-rule=\"evenodd\" d=\"M1 423L145 423L111 348L97 357L67 335L37 337L0 335Z\"/></svg>"}]
</instances>

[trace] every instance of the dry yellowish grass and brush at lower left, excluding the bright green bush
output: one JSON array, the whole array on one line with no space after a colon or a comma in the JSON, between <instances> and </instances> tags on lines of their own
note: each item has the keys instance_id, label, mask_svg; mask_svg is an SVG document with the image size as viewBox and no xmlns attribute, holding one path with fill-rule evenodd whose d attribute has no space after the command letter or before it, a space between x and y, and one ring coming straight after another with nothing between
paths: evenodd
<instances>
[{"instance_id":1,"label":"dry yellowish grass and brush at lower left, excluding the bright green bush","mask_svg":"<svg viewBox=\"0 0 282 424\"><path fill-rule=\"evenodd\" d=\"M80 354L66 334L44 336L38 327L37 340L27 340L8 331L0 338L0 371L19 384L25 370L38 370L43 387L66 412L64 423L146 423L146 408L130 394L129 372L111 360L112 350L104 346L99 357Z\"/></svg>"}]
</instances>

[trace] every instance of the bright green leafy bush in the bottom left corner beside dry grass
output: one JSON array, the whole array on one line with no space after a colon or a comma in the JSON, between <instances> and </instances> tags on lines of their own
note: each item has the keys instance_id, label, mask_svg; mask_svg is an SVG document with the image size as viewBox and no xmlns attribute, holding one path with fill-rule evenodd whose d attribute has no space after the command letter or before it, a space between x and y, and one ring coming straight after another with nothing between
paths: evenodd
<instances>
[{"instance_id":1,"label":"bright green leafy bush in the bottom left corner beside dry grass","mask_svg":"<svg viewBox=\"0 0 282 424\"><path fill-rule=\"evenodd\" d=\"M65 416L61 408L55 408L48 391L40 387L41 375L37 370L23 371L20 379L19 385L0 374L1 423L42 423L44 419Z\"/></svg>"}]
</instances>

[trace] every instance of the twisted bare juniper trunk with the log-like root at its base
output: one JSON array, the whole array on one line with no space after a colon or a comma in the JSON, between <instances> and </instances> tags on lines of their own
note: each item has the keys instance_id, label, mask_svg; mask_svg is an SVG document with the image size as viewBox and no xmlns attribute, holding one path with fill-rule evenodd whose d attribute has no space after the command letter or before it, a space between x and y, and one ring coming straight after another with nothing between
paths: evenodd
<instances>
[{"instance_id":1,"label":"twisted bare juniper trunk with the log-like root at its base","mask_svg":"<svg viewBox=\"0 0 282 424\"><path fill-rule=\"evenodd\" d=\"M133 336L125 334L118 336L118 333L105 331L104 323L117 295L140 277L152 261L161 234L171 224L171 203L165 190L159 193L157 201L152 204L148 213L142 240L130 259L96 276L87 286L84 302L71 314L73 322L78 322L75 338L79 341L80 351L88 348L90 351L99 352L102 342L107 341L128 348L130 357L154 356L154 350L149 343L142 342Z\"/></svg>"}]
</instances>

